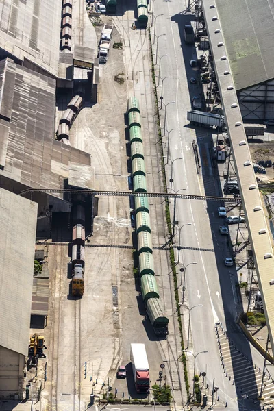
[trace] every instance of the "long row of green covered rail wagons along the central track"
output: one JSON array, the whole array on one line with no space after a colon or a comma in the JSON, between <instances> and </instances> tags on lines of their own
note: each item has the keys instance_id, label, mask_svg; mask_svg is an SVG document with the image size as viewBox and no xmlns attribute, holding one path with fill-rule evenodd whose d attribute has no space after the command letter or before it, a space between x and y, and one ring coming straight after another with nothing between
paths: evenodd
<instances>
[{"instance_id":1,"label":"long row of green covered rail wagons along the central track","mask_svg":"<svg viewBox=\"0 0 274 411\"><path fill-rule=\"evenodd\" d=\"M129 119L133 188L135 192L147 192L140 105L136 97L130 97L128 99L127 114ZM148 197L134 196L134 203L142 299L145 303L147 316L153 325L155 334L158 336L166 336L169 334L169 319L164 315L162 310L158 286L155 279L149 200Z\"/></svg>"}]
</instances>

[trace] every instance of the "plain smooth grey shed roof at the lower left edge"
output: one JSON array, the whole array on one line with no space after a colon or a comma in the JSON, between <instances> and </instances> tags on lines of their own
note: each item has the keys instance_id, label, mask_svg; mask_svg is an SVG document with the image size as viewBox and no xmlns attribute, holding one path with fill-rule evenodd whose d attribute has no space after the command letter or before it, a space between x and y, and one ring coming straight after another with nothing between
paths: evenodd
<instances>
[{"instance_id":1,"label":"plain smooth grey shed roof at the lower left edge","mask_svg":"<svg viewBox=\"0 0 274 411\"><path fill-rule=\"evenodd\" d=\"M27 355L38 204L0 188L0 345Z\"/></svg>"}]
</instances>

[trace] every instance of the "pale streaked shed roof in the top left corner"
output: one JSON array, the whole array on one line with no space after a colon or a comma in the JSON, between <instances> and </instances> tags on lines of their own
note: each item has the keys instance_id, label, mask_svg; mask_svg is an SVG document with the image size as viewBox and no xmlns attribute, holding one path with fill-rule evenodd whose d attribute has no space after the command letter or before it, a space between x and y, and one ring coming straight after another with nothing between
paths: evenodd
<instances>
[{"instance_id":1,"label":"pale streaked shed roof in the top left corner","mask_svg":"<svg viewBox=\"0 0 274 411\"><path fill-rule=\"evenodd\" d=\"M1 0L0 47L58 75L60 0Z\"/></svg>"}]
</instances>

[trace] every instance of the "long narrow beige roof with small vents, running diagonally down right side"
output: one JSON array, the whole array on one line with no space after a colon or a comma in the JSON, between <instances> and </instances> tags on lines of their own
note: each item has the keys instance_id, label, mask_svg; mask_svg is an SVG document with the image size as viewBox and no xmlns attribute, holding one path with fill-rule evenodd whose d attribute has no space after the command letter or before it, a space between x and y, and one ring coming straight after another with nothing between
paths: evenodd
<instances>
[{"instance_id":1,"label":"long narrow beige roof with small vents, running diagonally down right side","mask_svg":"<svg viewBox=\"0 0 274 411\"><path fill-rule=\"evenodd\" d=\"M218 0L216 0L218 1ZM253 3L253 2L252 2ZM203 14L206 20L210 47L214 55L214 66L219 84L219 91L223 102L223 110L227 123L232 155L242 198L242 206L245 210L245 219L249 231L249 240L253 249L253 256L258 275L266 323L269 329L271 349L274 349L274 257L268 224L264 216L262 201L256 176L253 171L251 155L245 128L242 124L242 116L238 105L235 85L232 77L232 69L225 46L218 46L224 42L223 33L220 32L219 16L214 5L214 0L203 0ZM235 13L236 14L236 13Z\"/></svg>"}]
</instances>

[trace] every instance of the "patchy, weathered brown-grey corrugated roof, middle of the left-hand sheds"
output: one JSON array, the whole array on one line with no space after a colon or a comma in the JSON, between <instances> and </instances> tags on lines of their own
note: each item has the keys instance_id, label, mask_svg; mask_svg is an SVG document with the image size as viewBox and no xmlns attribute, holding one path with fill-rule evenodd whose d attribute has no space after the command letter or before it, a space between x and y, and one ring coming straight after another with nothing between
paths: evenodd
<instances>
[{"instance_id":1,"label":"patchy, weathered brown-grey corrugated roof, middle of the left-hand sheds","mask_svg":"<svg viewBox=\"0 0 274 411\"><path fill-rule=\"evenodd\" d=\"M53 140L55 80L9 59L0 62L1 79L0 116L7 121L0 123L0 175L32 188L64 188L69 163L90 165L90 154Z\"/></svg>"}]
</instances>

